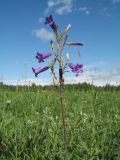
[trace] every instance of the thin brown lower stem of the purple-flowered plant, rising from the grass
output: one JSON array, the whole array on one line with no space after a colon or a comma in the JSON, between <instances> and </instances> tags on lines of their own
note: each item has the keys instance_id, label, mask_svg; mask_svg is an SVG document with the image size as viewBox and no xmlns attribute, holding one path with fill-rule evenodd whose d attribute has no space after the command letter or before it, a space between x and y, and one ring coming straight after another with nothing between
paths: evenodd
<instances>
[{"instance_id":1,"label":"thin brown lower stem of the purple-flowered plant, rising from the grass","mask_svg":"<svg viewBox=\"0 0 120 160\"><path fill-rule=\"evenodd\" d=\"M60 110L61 110L61 118L63 123L63 131L64 131L64 145L67 148L67 129L66 129L66 122L65 122L65 112L64 112L64 95L63 95L63 70L62 68L59 69L59 81L60 81Z\"/></svg>"}]
</instances>

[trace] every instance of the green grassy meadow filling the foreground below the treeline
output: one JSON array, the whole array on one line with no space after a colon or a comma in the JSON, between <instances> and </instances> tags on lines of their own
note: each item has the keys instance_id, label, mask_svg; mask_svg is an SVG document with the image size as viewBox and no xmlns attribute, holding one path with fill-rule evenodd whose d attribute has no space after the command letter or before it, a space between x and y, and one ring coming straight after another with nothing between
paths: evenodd
<instances>
[{"instance_id":1,"label":"green grassy meadow filling the foreground below the treeline","mask_svg":"<svg viewBox=\"0 0 120 160\"><path fill-rule=\"evenodd\" d=\"M0 88L0 160L120 160L120 90Z\"/></svg>"}]
</instances>

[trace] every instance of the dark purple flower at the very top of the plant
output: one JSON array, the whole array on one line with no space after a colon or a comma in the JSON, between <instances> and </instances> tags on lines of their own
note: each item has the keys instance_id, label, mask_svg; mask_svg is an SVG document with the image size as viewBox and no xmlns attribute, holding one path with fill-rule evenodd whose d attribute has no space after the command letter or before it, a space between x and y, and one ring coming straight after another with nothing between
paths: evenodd
<instances>
[{"instance_id":1,"label":"dark purple flower at the very top of the plant","mask_svg":"<svg viewBox=\"0 0 120 160\"><path fill-rule=\"evenodd\" d=\"M46 17L45 20L46 20L45 24L49 24L50 27L53 29L53 31L57 34L57 26L54 22L54 19L53 19L52 15L50 15L49 17Z\"/></svg>"}]
</instances>

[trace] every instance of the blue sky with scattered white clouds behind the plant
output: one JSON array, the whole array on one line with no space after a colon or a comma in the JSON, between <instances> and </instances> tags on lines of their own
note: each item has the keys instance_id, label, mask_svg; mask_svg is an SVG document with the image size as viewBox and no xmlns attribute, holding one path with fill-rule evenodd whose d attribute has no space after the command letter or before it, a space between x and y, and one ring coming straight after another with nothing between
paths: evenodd
<instances>
[{"instance_id":1,"label":"blue sky with scattered white clouds behind the plant","mask_svg":"<svg viewBox=\"0 0 120 160\"><path fill-rule=\"evenodd\" d=\"M66 83L120 83L120 0L0 0L0 81L24 82L25 66L29 81L50 81L50 70L35 78L31 68L48 64L47 59L38 63L35 55L51 51L54 34L44 24L51 14L59 32L71 24L68 40L84 44L80 57L76 47L63 52L84 65L77 78L66 73Z\"/></svg>"}]
</instances>

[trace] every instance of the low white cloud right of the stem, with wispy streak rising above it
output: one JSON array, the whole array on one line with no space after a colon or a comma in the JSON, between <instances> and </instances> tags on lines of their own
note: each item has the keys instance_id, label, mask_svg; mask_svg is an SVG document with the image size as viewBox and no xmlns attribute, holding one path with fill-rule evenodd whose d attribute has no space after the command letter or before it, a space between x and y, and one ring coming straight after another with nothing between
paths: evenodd
<instances>
[{"instance_id":1,"label":"low white cloud right of the stem, with wispy streak rising above it","mask_svg":"<svg viewBox=\"0 0 120 160\"><path fill-rule=\"evenodd\" d=\"M120 85L120 67L113 68L109 71L99 71L96 68L105 65L103 61L96 62L92 65L84 66L84 72L79 76L66 77L66 84L77 84L87 82L96 86Z\"/></svg>"}]
</instances>

